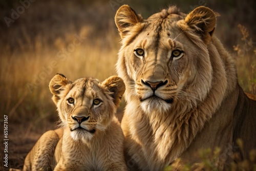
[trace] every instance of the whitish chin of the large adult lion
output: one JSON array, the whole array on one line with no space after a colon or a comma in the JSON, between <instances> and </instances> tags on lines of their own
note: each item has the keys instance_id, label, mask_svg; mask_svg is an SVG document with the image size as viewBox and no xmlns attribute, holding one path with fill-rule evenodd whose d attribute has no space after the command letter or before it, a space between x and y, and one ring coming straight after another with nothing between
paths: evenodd
<instances>
[{"instance_id":1,"label":"whitish chin of the large adult lion","mask_svg":"<svg viewBox=\"0 0 256 171\"><path fill-rule=\"evenodd\" d=\"M163 113L172 108L171 101L173 102L173 100L167 101L160 98L148 98L141 101L140 107L145 113L151 113L153 111Z\"/></svg>"}]
</instances>

